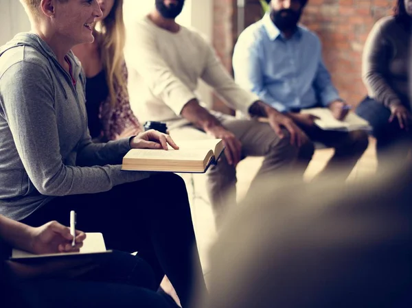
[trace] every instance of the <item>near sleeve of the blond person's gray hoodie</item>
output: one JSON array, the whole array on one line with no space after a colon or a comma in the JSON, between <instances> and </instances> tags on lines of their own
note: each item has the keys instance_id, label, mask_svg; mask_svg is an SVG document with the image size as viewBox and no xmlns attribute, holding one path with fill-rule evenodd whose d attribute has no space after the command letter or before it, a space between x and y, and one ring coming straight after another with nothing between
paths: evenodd
<instances>
[{"instance_id":1,"label":"near sleeve of the blond person's gray hoodie","mask_svg":"<svg viewBox=\"0 0 412 308\"><path fill-rule=\"evenodd\" d=\"M121 165L65 165L60 155L54 85L49 73L38 64L13 64L1 76L0 93L14 145L27 175L41 194L98 193L150 176L145 172L122 171ZM122 147L122 143L116 146Z\"/></svg>"}]
</instances>

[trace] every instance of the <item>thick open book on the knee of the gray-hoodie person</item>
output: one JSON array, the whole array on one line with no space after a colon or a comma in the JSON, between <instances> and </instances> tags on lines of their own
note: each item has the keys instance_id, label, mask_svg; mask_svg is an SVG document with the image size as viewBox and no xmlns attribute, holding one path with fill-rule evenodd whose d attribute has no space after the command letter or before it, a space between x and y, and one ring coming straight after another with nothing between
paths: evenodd
<instances>
[{"instance_id":1,"label":"thick open book on the knee of the gray-hoodie person","mask_svg":"<svg viewBox=\"0 0 412 308\"><path fill-rule=\"evenodd\" d=\"M176 141L179 150L132 149L123 158L123 170L203 173L216 165L225 145L222 139Z\"/></svg>"}]
</instances>

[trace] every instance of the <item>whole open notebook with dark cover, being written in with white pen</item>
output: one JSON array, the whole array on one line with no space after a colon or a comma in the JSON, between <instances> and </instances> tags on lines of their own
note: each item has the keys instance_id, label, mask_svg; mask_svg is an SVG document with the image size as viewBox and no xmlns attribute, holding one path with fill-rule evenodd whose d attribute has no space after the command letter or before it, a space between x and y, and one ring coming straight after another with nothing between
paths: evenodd
<instances>
[{"instance_id":1,"label":"whole open notebook with dark cover, being written in with white pen","mask_svg":"<svg viewBox=\"0 0 412 308\"><path fill-rule=\"evenodd\" d=\"M80 248L80 252L60 252L53 254L32 254L19 249L13 249L12 256L13 261L35 261L40 259L55 259L55 258L73 258L82 257L93 254L106 254L112 250L106 250L102 233L86 233L86 239L83 241L83 246Z\"/></svg>"}]
</instances>

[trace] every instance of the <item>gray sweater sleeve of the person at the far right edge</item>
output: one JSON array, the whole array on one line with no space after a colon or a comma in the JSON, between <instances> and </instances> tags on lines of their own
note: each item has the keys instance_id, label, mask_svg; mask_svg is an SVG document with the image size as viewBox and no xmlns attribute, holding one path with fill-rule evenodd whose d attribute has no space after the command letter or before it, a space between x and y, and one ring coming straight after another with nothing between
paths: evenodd
<instances>
[{"instance_id":1,"label":"gray sweater sleeve of the person at the far right edge","mask_svg":"<svg viewBox=\"0 0 412 308\"><path fill-rule=\"evenodd\" d=\"M382 25L385 23L378 21L366 40L362 58L362 78L369 97L389 107L401 102L387 80L391 46L382 34Z\"/></svg>"}]
</instances>

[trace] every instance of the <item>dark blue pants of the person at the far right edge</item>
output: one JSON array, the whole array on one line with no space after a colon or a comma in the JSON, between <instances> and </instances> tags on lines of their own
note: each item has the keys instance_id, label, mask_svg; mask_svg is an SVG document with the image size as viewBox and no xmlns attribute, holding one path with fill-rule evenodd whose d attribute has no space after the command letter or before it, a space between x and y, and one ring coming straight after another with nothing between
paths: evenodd
<instances>
[{"instance_id":1,"label":"dark blue pants of the person at the far right edge","mask_svg":"<svg viewBox=\"0 0 412 308\"><path fill-rule=\"evenodd\" d=\"M379 164L382 163L382 159L385 159L389 151L392 155L397 155L396 159L400 159L400 161L407 158L408 145L411 145L412 134L410 131L407 132L400 128L398 119L393 119L389 123L389 117L391 116L389 108L370 97L366 97L356 108L356 114L369 121L372 126L372 134L376 138L376 153ZM392 150L395 148L396 151L393 152Z\"/></svg>"}]
</instances>

